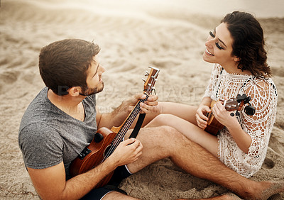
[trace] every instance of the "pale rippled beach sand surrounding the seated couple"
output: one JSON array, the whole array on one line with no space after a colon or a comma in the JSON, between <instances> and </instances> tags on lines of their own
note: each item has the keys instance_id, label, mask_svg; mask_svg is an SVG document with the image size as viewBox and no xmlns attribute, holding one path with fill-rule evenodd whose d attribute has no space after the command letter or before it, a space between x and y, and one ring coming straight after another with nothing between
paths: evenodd
<instances>
[{"instance_id":1,"label":"pale rippled beach sand surrounding the seated couple","mask_svg":"<svg viewBox=\"0 0 284 200\"><path fill-rule=\"evenodd\" d=\"M212 65L202 60L209 30L225 13L251 11L265 30L268 64L278 88L278 113L266 160L253 180L284 179L283 1L1 1L0 13L0 199L39 199L18 148L18 126L44 87L40 48L55 40L82 38L100 45L105 89L99 109L112 111L143 89L148 66L160 68L160 101L199 104ZM221 172L220 172L221 173ZM229 191L160 160L121 183L141 199L206 198ZM284 193L272 199L284 199Z\"/></svg>"}]
</instances>

